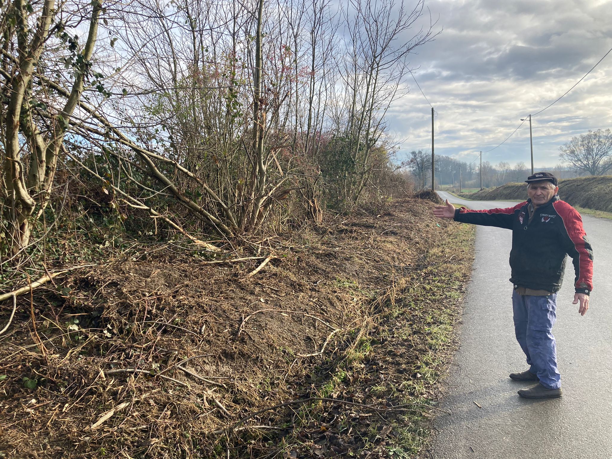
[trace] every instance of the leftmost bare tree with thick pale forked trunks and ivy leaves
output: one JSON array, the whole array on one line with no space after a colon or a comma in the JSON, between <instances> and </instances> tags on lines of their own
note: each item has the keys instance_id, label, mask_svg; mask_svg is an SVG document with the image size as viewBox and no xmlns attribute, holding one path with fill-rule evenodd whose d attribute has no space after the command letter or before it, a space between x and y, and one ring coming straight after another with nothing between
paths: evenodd
<instances>
[{"instance_id":1,"label":"leftmost bare tree with thick pale forked trunks and ivy leaves","mask_svg":"<svg viewBox=\"0 0 612 459\"><path fill-rule=\"evenodd\" d=\"M91 58L101 10L101 2L91 2L84 45L67 33L67 29L80 26L80 12L65 11L62 3L15 0L3 11L2 95L8 102L0 119L2 179L10 203L7 217L12 226L13 252L28 245L30 217L37 206L45 205L53 185L64 136L84 84L92 76ZM14 21L7 20L9 17ZM70 90L58 98L40 83L40 76L58 69L61 63L72 71L61 72Z\"/></svg>"}]
</instances>

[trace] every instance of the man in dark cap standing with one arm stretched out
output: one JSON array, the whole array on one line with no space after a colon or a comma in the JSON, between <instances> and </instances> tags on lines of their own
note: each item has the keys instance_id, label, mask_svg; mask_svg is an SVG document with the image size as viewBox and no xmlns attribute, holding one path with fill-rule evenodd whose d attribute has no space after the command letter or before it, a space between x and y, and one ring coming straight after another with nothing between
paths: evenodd
<instances>
[{"instance_id":1,"label":"man in dark cap standing with one arm stretched out","mask_svg":"<svg viewBox=\"0 0 612 459\"><path fill-rule=\"evenodd\" d=\"M557 370L556 343L551 329L556 320L556 299L563 280L565 255L573 258L576 271L573 304L580 302L578 312L584 315L593 288L593 252L580 214L559 200L556 177L539 172L529 176L526 183L529 199L514 207L470 211L464 207L455 209L446 200L446 206L436 206L433 213L457 222L512 230L510 282L514 285L514 327L530 367L512 373L510 378L539 381L529 389L519 390L521 397L561 397L561 375Z\"/></svg>"}]
</instances>

